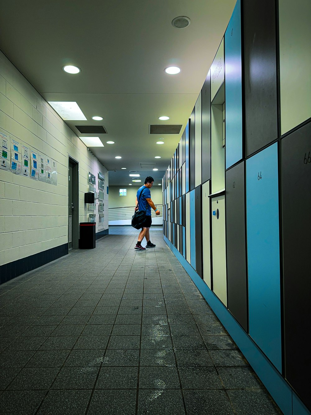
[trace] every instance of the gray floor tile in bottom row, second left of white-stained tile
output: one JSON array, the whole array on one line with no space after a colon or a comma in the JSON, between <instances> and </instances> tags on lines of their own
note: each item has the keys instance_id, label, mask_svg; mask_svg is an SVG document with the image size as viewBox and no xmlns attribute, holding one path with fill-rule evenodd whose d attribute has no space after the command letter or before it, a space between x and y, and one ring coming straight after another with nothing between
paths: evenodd
<instances>
[{"instance_id":1,"label":"gray floor tile in bottom row, second left of white-stained tile","mask_svg":"<svg viewBox=\"0 0 311 415\"><path fill-rule=\"evenodd\" d=\"M38 414L84 415L91 396L90 390L50 390Z\"/></svg>"}]
</instances>

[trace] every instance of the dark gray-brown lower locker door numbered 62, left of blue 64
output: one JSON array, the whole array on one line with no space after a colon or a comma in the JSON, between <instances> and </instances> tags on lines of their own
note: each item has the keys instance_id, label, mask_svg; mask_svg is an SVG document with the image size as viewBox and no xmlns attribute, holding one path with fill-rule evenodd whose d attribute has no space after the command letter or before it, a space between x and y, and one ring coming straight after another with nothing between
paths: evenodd
<instances>
[{"instance_id":1,"label":"dark gray-brown lower locker door numbered 62, left of blue 64","mask_svg":"<svg viewBox=\"0 0 311 415\"><path fill-rule=\"evenodd\" d=\"M228 309L247 332L244 161L226 171Z\"/></svg>"}]
</instances>

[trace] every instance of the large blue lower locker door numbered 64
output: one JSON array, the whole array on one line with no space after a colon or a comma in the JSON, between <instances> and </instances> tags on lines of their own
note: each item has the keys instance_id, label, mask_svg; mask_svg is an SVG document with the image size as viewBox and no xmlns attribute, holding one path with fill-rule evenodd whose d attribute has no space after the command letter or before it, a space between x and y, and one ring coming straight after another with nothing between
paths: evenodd
<instances>
[{"instance_id":1,"label":"large blue lower locker door numbered 64","mask_svg":"<svg viewBox=\"0 0 311 415\"><path fill-rule=\"evenodd\" d=\"M246 160L249 334L282 372L277 143Z\"/></svg>"}]
</instances>

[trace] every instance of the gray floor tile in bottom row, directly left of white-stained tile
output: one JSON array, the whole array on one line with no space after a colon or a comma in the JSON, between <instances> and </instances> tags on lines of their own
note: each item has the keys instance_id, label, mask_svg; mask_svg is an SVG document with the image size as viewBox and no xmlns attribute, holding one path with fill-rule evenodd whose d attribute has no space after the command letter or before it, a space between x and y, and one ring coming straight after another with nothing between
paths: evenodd
<instances>
[{"instance_id":1,"label":"gray floor tile in bottom row, directly left of white-stained tile","mask_svg":"<svg viewBox=\"0 0 311 415\"><path fill-rule=\"evenodd\" d=\"M109 415L134 415L136 391L122 389L96 390L92 395L88 415L98 415L105 408Z\"/></svg>"}]
</instances>

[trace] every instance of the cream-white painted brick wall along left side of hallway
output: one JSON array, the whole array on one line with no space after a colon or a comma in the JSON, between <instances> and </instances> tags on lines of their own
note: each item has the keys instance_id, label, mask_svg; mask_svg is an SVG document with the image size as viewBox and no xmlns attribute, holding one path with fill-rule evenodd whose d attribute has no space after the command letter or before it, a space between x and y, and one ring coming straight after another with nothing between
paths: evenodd
<instances>
[{"instance_id":1,"label":"cream-white painted brick wall along left side of hallway","mask_svg":"<svg viewBox=\"0 0 311 415\"><path fill-rule=\"evenodd\" d=\"M79 162L79 222L88 220L88 172L108 173L53 108L0 52L0 130L57 162L57 186L0 170L0 265L68 242L68 156ZM96 228L99 229L98 205Z\"/></svg>"}]
</instances>

